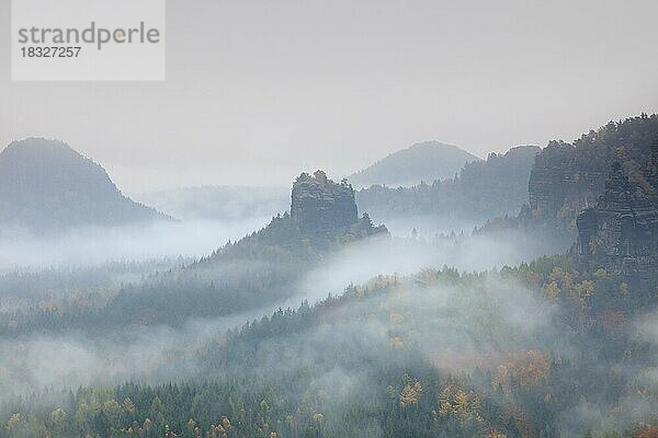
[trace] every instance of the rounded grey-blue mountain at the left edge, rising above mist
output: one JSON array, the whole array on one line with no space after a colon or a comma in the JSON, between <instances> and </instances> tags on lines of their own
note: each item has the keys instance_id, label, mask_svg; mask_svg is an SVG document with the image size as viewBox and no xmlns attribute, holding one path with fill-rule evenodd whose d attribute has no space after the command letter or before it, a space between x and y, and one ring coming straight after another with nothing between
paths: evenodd
<instances>
[{"instance_id":1,"label":"rounded grey-blue mountain at the left edge, rising above mist","mask_svg":"<svg viewBox=\"0 0 658 438\"><path fill-rule=\"evenodd\" d=\"M105 170L58 140L29 138L0 152L0 227L47 233L170 219L124 196Z\"/></svg>"}]
</instances>

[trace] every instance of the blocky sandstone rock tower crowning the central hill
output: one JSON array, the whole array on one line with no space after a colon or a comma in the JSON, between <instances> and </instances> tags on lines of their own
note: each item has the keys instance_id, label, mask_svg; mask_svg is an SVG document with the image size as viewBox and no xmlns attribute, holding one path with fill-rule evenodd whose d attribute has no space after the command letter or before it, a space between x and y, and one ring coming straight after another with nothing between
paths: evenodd
<instances>
[{"instance_id":1,"label":"blocky sandstone rock tower crowning the central hill","mask_svg":"<svg viewBox=\"0 0 658 438\"><path fill-rule=\"evenodd\" d=\"M291 217L303 234L336 235L359 221L354 189L322 171L303 173L293 184Z\"/></svg>"}]
</instances>

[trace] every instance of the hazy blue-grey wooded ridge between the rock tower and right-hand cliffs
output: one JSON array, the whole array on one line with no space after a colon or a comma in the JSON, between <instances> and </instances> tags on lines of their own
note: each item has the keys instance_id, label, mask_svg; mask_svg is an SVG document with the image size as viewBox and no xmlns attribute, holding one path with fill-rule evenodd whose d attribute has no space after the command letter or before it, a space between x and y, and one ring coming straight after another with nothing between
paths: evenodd
<instances>
[{"instance_id":1,"label":"hazy blue-grey wooded ridge between the rock tower and right-hand cliffs","mask_svg":"<svg viewBox=\"0 0 658 438\"><path fill-rule=\"evenodd\" d=\"M527 181L538 152L535 146L521 146L491 153L486 161L466 164L455 178L431 185L373 186L356 194L356 204L383 221L423 215L472 220L515 215L527 203Z\"/></svg>"}]
</instances>

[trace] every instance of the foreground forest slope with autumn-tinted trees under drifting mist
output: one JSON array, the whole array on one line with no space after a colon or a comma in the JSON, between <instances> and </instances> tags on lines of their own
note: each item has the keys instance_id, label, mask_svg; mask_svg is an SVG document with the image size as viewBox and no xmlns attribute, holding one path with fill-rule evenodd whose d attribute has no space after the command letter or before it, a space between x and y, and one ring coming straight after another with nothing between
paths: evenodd
<instances>
[{"instance_id":1,"label":"foreground forest slope with autumn-tinted trees under drifting mist","mask_svg":"<svg viewBox=\"0 0 658 438\"><path fill-rule=\"evenodd\" d=\"M648 437L645 299L568 256L378 277L198 346L191 381L10 400L0 437Z\"/></svg>"}]
</instances>

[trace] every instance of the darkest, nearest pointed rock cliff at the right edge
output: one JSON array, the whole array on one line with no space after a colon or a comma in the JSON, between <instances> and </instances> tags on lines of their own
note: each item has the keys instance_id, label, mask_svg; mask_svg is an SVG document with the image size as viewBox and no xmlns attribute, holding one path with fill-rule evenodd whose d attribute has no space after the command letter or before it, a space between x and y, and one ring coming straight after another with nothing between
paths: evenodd
<instances>
[{"instance_id":1,"label":"darkest, nearest pointed rock cliff at the right edge","mask_svg":"<svg viewBox=\"0 0 658 438\"><path fill-rule=\"evenodd\" d=\"M629 182L621 164L613 165L599 203L577 224L578 257L588 268L644 281L658 266L656 197Z\"/></svg>"}]
</instances>

